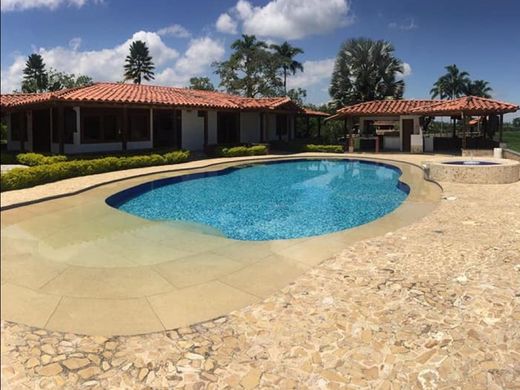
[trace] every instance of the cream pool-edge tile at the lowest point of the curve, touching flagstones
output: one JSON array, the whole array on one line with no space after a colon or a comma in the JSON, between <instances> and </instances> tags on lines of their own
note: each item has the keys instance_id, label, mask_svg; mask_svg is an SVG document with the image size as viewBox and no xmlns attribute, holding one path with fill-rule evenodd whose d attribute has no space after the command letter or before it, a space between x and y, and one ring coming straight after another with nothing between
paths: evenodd
<instances>
[{"instance_id":1,"label":"cream pool-edge tile at the lowest point of the curve, touching flagstones","mask_svg":"<svg viewBox=\"0 0 520 390\"><path fill-rule=\"evenodd\" d=\"M46 328L99 336L133 335L164 330L146 298L64 297Z\"/></svg>"}]
</instances>

